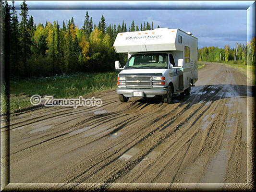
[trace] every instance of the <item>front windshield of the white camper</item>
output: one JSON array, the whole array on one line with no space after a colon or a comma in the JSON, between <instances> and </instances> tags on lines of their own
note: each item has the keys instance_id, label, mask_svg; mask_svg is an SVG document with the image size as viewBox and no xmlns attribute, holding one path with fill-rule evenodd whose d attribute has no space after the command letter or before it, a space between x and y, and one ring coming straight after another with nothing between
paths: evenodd
<instances>
[{"instance_id":1,"label":"front windshield of the white camper","mask_svg":"<svg viewBox=\"0 0 256 192\"><path fill-rule=\"evenodd\" d=\"M125 68L129 69L164 69L168 68L168 54L166 53L144 53L130 57Z\"/></svg>"}]
</instances>

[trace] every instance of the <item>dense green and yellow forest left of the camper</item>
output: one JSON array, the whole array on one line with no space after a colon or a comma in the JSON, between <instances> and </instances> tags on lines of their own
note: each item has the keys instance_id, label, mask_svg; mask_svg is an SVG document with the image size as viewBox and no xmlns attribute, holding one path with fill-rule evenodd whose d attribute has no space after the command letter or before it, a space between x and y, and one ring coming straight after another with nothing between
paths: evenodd
<instances>
[{"instance_id":1,"label":"dense green and yellow forest left of the camper","mask_svg":"<svg viewBox=\"0 0 256 192\"><path fill-rule=\"evenodd\" d=\"M108 25L103 15L98 25L94 24L87 11L80 29L73 17L61 25L58 21L36 25L33 16L28 15L25 0L19 22L14 1L12 5L1 1L0 6L1 32L8 34L10 30L10 75L16 77L114 70L115 60L121 63L127 60L126 55L115 53L113 48L117 34L139 31L134 21L130 26L123 21ZM140 30L153 27L153 22L140 24Z\"/></svg>"}]
</instances>

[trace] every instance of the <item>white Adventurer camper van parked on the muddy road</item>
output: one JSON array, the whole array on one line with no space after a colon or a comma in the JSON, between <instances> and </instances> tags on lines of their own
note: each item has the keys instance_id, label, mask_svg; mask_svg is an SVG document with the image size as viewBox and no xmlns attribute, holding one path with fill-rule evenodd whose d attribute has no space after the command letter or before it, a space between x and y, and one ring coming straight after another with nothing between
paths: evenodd
<instances>
[{"instance_id":1,"label":"white Adventurer camper van parked on the muddy road","mask_svg":"<svg viewBox=\"0 0 256 192\"><path fill-rule=\"evenodd\" d=\"M117 94L121 102L129 97L161 96L171 103L173 94L190 94L197 81L197 38L180 29L157 28L119 33L117 53L127 53L124 67L115 62Z\"/></svg>"}]
</instances>

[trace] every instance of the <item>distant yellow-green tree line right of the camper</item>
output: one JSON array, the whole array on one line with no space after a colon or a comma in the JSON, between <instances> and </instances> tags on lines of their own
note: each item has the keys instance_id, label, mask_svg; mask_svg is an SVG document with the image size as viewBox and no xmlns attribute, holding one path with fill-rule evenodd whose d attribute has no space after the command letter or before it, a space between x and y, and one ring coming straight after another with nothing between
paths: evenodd
<instances>
[{"instance_id":1,"label":"distant yellow-green tree line right of the camper","mask_svg":"<svg viewBox=\"0 0 256 192\"><path fill-rule=\"evenodd\" d=\"M230 48L229 45L225 45L224 48L199 48L198 60L255 65L255 37L253 37L246 45L236 43L235 48Z\"/></svg>"}]
</instances>

